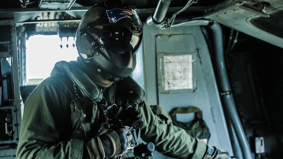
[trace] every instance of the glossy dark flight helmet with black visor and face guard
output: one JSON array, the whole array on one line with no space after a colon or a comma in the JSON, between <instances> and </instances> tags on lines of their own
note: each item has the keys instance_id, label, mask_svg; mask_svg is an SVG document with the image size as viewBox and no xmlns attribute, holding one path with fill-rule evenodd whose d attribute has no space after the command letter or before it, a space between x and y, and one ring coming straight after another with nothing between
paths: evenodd
<instances>
[{"instance_id":1,"label":"glossy dark flight helmet with black visor and face guard","mask_svg":"<svg viewBox=\"0 0 283 159\"><path fill-rule=\"evenodd\" d=\"M83 63L117 78L129 76L136 67L143 28L136 11L120 0L108 0L89 9L76 33Z\"/></svg>"}]
</instances>

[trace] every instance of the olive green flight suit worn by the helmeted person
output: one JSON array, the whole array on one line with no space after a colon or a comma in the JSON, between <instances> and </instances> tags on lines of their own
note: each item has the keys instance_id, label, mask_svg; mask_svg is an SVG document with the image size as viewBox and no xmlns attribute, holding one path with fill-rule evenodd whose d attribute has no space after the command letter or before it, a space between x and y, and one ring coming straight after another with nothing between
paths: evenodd
<instances>
[{"instance_id":1,"label":"olive green flight suit worn by the helmeted person","mask_svg":"<svg viewBox=\"0 0 283 159\"><path fill-rule=\"evenodd\" d=\"M121 92L118 81L103 95L109 103L127 104L129 99ZM155 150L172 158L203 157L205 143L174 126L162 107L143 104L137 107L144 121L140 129L143 141L154 143ZM82 158L84 140L72 136L80 134L87 127L82 121L93 121L96 112L96 102L77 98L65 71L50 76L25 102L16 158Z\"/></svg>"}]
</instances>

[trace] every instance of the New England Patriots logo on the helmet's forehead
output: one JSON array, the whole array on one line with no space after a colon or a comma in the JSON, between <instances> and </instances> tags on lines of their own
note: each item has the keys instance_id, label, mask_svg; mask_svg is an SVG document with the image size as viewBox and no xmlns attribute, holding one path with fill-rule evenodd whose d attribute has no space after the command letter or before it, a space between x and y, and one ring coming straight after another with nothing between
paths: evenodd
<instances>
[{"instance_id":1,"label":"New England Patriots logo on the helmet's forehead","mask_svg":"<svg viewBox=\"0 0 283 159\"><path fill-rule=\"evenodd\" d=\"M118 20L122 18L131 18L129 15L135 14L130 10L120 9L120 8L106 10L106 13L110 23L116 23Z\"/></svg>"}]
</instances>

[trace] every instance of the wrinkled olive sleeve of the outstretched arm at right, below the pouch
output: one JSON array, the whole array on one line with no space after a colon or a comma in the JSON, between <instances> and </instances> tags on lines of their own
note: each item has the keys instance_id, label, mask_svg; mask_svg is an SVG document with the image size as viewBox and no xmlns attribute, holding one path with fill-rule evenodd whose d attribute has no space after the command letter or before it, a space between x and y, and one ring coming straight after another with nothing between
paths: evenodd
<instances>
[{"instance_id":1,"label":"wrinkled olive sleeve of the outstretched arm at right, below the pouch","mask_svg":"<svg viewBox=\"0 0 283 159\"><path fill-rule=\"evenodd\" d=\"M174 126L170 116L158 105L139 108L144 124L141 139L155 144L155 150L172 158L201 159L205 154L206 144L191 137L185 130Z\"/></svg>"}]
</instances>

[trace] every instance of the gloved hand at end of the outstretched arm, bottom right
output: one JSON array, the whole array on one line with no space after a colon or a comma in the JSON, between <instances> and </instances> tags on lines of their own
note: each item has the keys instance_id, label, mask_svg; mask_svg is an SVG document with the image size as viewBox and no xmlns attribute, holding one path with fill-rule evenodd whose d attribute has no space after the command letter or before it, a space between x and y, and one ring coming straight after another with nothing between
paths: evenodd
<instances>
[{"instance_id":1,"label":"gloved hand at end of the outstretched arm, bottom right","mask_svg":"<svg viewBox=\"0 0 283 159\"><path fill-rule=\"evenodd\" d=\"M231 157L227 151L207 145L202 159L231 159Z\"/></svg>"}]
</instances>

